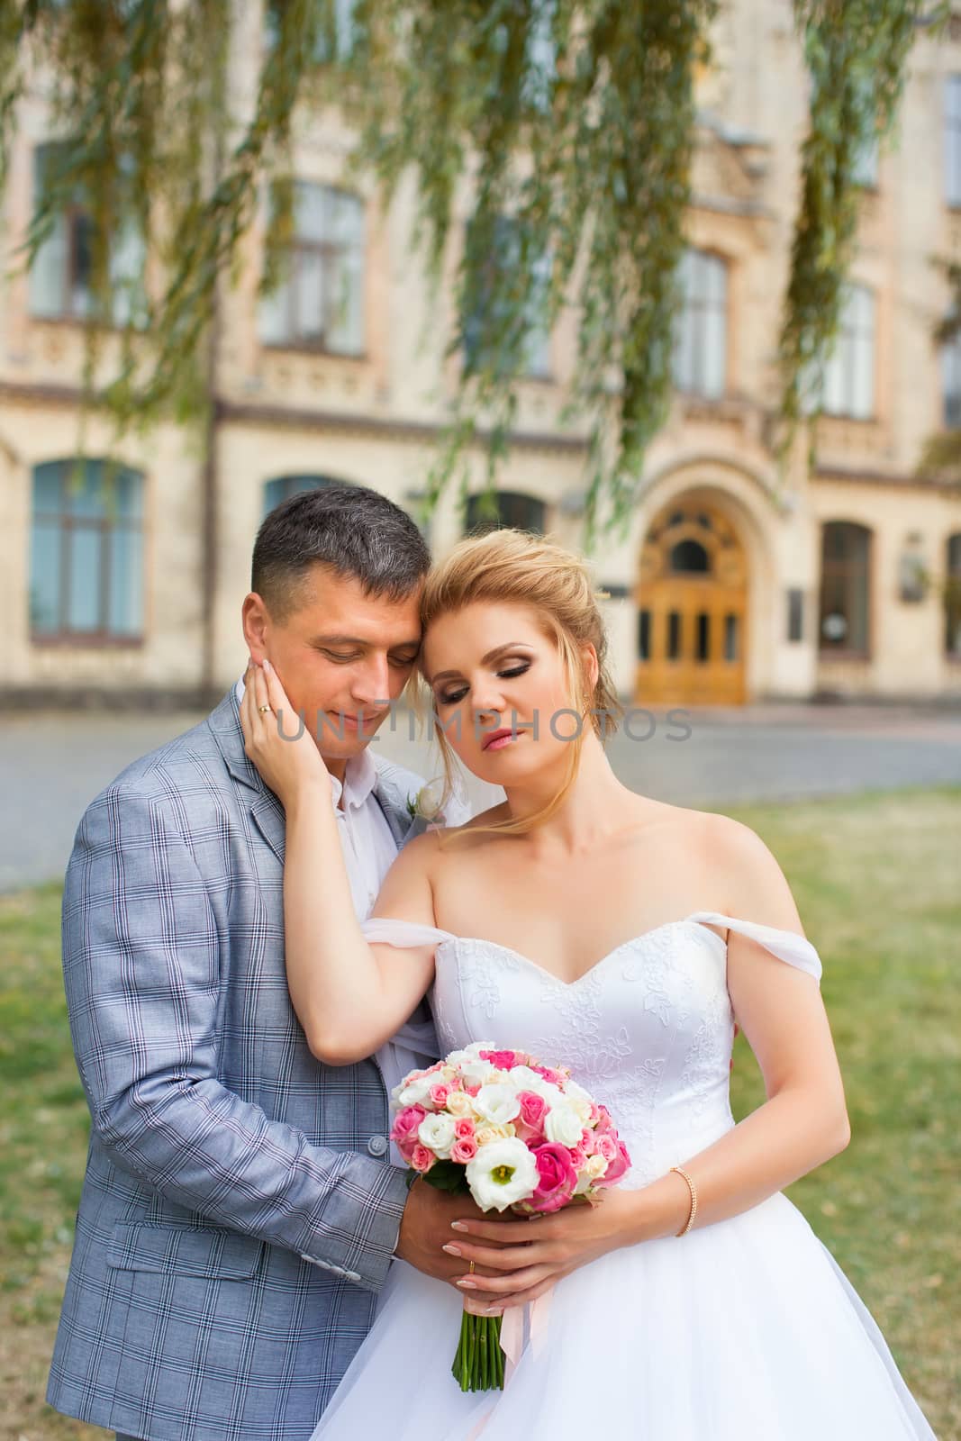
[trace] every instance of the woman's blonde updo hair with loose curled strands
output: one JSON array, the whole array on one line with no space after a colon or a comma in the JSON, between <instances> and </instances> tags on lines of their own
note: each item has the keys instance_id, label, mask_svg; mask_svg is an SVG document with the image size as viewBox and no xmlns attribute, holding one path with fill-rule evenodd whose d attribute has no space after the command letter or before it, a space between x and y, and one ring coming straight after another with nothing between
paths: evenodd
<instances>
[{"instance_id":1,"label":"woman's blonde updo hair with loose curled strands","mask_svg":"<svg viewBox=\"0 0 961 1441\"><path fill-rule=\"evenodd\" d=\"M500 529L458 542L451 553L429 571L421 601L421 624L426 634L428 627L441 615L461 611L475 601L513 602L535 611L542 633L560 653L572 708L589 718L595 735L604 744L608 735L617 731L624 706L608 676L607 635L598 610L598 595L604 592L594 589L585 562L571 550L526 530ZM588 643L594 646L598 657L598 679L592 687L581 656L581 647ZM588 712L592 713L588 716ZM437 719L434 729L441 748L447 800L454 790L455 757ZM573 785L584 733L581 725L576 738L569 744L563 784L547 806L523 820L473 826L470 834L490 830L497 834L520 836L549 820Z\"/></svg>"}]
</instances>

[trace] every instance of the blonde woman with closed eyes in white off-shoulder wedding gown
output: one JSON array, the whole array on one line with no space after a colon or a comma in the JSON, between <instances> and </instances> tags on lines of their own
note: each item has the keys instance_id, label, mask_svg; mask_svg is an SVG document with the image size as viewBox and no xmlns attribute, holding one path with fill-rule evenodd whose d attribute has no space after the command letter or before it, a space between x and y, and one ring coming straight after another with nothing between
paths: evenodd
<instances>
[{"instance_id":1,"label":"blonde woman with closed eyes in white off-shoulder wedding gown","mask_svg":"<svg viewBox=\"0 0 961 1441\"><path fill-rule=\"evenodd\" d=\"M377 1052L393 1084L390 1038L429 990L442 1052L487 1040L571 1066L633 1166L599 1205L533 1226L465 1208L444 1245L452 1284L395 1261L314 1441L934 1438L782 1195L850 1128L821 963L774 856L738 821L617 780L605 637L568 552L510 530L464 540L429 575L422 624L448 778L452 752L506 800L405 846L363 924L317 746L256 709L290 715L277 673L246 690L248 755L287 808L297 1014L320 1059ZM766 1092L738 1124L735 1016ZM461 1308L535 1301L506 1389L462 1393Z\"/></svg>"}]
</instances>

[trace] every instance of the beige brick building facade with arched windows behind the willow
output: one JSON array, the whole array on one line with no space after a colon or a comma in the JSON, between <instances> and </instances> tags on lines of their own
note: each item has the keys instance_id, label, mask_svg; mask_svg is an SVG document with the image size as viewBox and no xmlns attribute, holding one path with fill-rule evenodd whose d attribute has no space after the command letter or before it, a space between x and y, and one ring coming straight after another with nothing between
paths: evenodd
<instances>
[{"instance_id":1,"label":"beige brick building facade with arched windows behind the willow","mask_svg":"<svg viewBox=\"0 0 961 1441\"><path fill-rule=\"evenodd\" d=\"M248 58L262 43L255 12L245 7ZM699 85L674 402L628 536L596 555L615 683L637 705L961 699L961 490L918 470L925 441L961 425L961 344L932 339L951 300L932 258L961 254L961 22L937 43L919 37L893 147L863 157L826 414L814 458L798 454L787 476L772 450L775 354L807 105L790 0L722 7ZM55 141L42 97L27 95L3 197L4 272ZM97 457L109 435L92 415L92 458L73 464L82 205L32 272L3 284L0 703L4 692L7 703L212 699L243 666L241 602L272 504L330 480L416 504L454 391L450 301L411 252L411 189L385 212L349 186L350 143L330 114L303 127L295 249L268 301L262 222L245 242L220 307L206 448L163 425L127 438L108 477ZM115 255L121 275L144 262L135 236ZM575 350L571 314L532 334L499 499L504 523L572 549L586 451L560 412ZM483 457L473 465L480 491ZM434 552L474 519L474 504L462 514L445 496Z\"/></svg>"}]
</instances>

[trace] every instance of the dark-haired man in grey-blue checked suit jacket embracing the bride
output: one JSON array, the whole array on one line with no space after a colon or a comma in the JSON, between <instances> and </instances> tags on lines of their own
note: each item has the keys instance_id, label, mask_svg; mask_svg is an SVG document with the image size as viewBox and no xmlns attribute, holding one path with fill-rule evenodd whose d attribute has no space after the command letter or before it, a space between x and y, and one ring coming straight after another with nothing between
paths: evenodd
<instances>
[{"instance_id":1,"label":"dark-haired man in grey-blue checked suit jacket embracing the bride","mask_svg":"<svg viewBox=\"0 0 961 1441\"><path fill-rule=\"evenodd\" d=\"M367 744L414 672L428 565L398 506L328 487L267 517L243 602L251 654L318 733L362 918L424 824L421 778ZM92 1134L48 1401L147 1441L307 1441L390 1257L462 1271L441 1244L464 1200L408 1195L375 1062L324 1066L297 1023L284 811L241 696L89 806L63 893Z\"/></svg>"}]
</instances>

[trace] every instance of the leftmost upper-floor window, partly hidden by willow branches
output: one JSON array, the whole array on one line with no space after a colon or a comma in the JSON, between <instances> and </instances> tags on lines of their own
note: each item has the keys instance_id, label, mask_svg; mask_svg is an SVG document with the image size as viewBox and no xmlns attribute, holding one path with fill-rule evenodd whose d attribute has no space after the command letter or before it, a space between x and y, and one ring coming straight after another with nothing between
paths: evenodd
<instances>
[{"instance_id":1,"label":"leftmost upper-floor window, partly hidden by willow branches","mask_svg":"<svg viewBox=\"0 0 961 1441\"><path fill-rule=\"evenodd\" d=\"M39 146L33 154L35 209L52 187L58 167L65 163L66 146L59 141ZM55 216L53 226L39 246L30 267L30 313L48 320L82 320L92 314L94 220L78 187ZM144 241L133 225L125 225L109 241L109 277L114 287L111 320L125 326L135 318L143 291Z\"/></svg>"}]
</instances>

